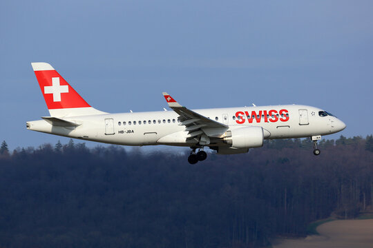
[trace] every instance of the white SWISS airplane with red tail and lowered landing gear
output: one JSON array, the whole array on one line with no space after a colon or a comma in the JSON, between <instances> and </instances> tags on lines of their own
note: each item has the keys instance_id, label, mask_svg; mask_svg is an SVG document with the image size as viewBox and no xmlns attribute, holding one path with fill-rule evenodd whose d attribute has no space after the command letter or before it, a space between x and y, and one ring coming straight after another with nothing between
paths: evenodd
<instances>
[{"instance_id":1,"label":"white SWISS airplane with red tail and lowered landing gear","mask_svg":"<svg viewBox=\"0 0 373 248\"><path fill-rule=\"evenodd\" d=\"M265 139L311 138L319 155L321 136L344 130L333 114L307 105L269 105L190 110L163 92L173 111L110 114L91 107L48 63L31 63L50 116L26 128L85 141L117 145L190 147L191 164L217 154L242 154ZM166 109L164 109L166 110Z\"/></svg>"}]
</instances>

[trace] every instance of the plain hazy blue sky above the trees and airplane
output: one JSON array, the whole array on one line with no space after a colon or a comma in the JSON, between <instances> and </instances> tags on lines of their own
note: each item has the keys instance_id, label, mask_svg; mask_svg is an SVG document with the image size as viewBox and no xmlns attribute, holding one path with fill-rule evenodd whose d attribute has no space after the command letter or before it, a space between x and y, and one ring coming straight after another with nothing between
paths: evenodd
<instances>
[{"instance_id":1,"label":"plain hazy blue sky above the trees and airplane","mask_svg":"<svg viewBox=\"0 0 373 248\"><path fill-rule=\"evenodd\" d=\"M93 107L162 110L305 104L341 118L329 138L372 134L372 1L1 1L0 140L47 116L30 62L48 62Z\"/></svg>"}]
</instances>

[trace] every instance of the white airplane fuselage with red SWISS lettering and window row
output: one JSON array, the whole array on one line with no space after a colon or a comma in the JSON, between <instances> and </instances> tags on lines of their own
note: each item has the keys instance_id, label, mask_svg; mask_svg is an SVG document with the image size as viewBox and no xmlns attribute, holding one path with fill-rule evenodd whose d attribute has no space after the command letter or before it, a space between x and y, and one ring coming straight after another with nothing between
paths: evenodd
<instances>
[{"instance_id":1,"label":"white airplane fuselage with red SWISS lettering and window row","mask_svg":"<svg viewBox=\"0 0 373 248\"><path fill-rule=\"evenodd\" d=\"M320 116L319 112L323 110L306 105L229 107L193 111L229 126L229 130L260 126L267 139L327 135L345 128L345 124L335 116ZM27 127L29 130L48 134L118 145L192 146L194 141L187 141L188 132L185 131L184 125L179 125L178 117L179 115L173 111L95 114L64 117L66 121L79 124L77 127L55 126L44 120L30 121ZM222 138L221 134L213 141L216 145L220 145L219 138Z\"/></svg>"}]
</instances>

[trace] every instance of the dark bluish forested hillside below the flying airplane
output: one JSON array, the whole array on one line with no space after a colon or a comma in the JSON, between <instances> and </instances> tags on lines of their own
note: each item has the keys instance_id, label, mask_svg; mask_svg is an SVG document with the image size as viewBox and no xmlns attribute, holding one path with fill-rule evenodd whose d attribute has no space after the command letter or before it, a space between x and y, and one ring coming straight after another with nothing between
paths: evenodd
<instances>
[{"instance_id":1,"label":"dark bluish forested hillside below the flying airplane","mask_svg":"<svg viewBox=\"0 0 373 248\"><path fill-rule=\"evenodd\" d=\"M0 247L260 247L372 211L373 137L265 141L249 154L0 147Z\"/></svg>"}]
</instances>

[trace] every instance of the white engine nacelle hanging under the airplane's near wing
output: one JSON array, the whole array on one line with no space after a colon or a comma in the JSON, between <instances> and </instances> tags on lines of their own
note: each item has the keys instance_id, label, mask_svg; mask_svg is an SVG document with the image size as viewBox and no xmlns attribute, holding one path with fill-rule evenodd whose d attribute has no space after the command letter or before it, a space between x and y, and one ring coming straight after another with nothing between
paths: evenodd
<instances>
[{"instance_id":1,"label":"white engine nacelle hanging under the airplane's near wing","mask_svg":"<svg viewBox=\"0 0 373 248\"><path fill-rule=\"evenodd\" d=\"M262 127L240 127L227 131L223 141L235 148L261 147L264 132Z\"/></svg>"}]
</instances>

